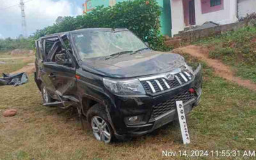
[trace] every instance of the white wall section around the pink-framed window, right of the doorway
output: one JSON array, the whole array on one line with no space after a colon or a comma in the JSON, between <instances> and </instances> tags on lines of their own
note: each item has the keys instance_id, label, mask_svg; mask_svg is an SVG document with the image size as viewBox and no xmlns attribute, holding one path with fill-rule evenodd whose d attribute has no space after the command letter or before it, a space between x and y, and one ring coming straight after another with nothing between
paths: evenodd
<instances>
[{"instance_id":1,"label":"white wall section around the pink-framed window, right of the doorway","mask_svg":"<svg viewBox=\"0 0 256 160\"><path fill-rule=\"evenodd\" d=\"M202 25L207 21L216 22L218 24L229 24L237 22L236 0L224 0L223 2L223 10L202 14L201 0L195 0L196 25Z\"/></svg>"}]
</instances>

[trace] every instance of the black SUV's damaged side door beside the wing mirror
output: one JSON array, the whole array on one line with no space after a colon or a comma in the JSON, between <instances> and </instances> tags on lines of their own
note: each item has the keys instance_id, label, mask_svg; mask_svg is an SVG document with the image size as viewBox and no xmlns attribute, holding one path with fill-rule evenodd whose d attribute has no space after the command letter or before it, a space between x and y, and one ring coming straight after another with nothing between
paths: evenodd
<instances>
[{"instance_id":1,"label":"black SUV's damaged side door beside the wing mirror","mask_svg":"<svg viewBox=\"0 0 256 160\"><path fill-rule=\"evenodd\" d=\"M49 93L55 99L57 99L56 94L73 95L76 93L75 63L73 65L60 65L55 60L56 54L66 54L66 57L70 58L65 47L61 44L60 39L54 37L52 41L45 40L44 49L45 58L42 77Z\"/></svg>"}]
</instances>

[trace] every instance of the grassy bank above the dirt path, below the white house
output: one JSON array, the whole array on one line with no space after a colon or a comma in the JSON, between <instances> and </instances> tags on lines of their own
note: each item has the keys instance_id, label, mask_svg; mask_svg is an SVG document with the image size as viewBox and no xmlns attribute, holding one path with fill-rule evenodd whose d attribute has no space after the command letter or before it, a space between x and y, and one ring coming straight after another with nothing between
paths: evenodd
<instances>
[{"instance_id":1,"label":"grassy bank above the dirt path, below the white house","mask_svg":"<svg viewBox=\"0 0 256 160\"><path fill-rule=\"evenodd\" d=\"M209 47L210 58L216 58L230 65L236 75L256 83L256 27L228 31L195 42Z\"/></svg>"}]
</instances>

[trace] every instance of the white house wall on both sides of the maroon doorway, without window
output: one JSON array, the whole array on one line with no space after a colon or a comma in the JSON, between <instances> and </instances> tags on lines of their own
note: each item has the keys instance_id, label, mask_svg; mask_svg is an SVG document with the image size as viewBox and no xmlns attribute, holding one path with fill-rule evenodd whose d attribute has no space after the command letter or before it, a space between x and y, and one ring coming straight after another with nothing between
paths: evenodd
<instances>
[{"instance_id":1,"label":"white house wall on both sides of the maroon doorway, without window","mask_svg":"<svg viewBox=\"0 0 256 160\"><path fill-rule=\"evenodd\" d=\"M179 33L179 31L183 31L185 27L183 4L182 0L170 1L172 6L172 35L175 35ZM195 0L196 25L202 25L207 21L216 22L218 24L229 24L237 22L236 8L237 0L224 0L223 10L202 14L201 0Z\"/></svg>"}]
</instances>

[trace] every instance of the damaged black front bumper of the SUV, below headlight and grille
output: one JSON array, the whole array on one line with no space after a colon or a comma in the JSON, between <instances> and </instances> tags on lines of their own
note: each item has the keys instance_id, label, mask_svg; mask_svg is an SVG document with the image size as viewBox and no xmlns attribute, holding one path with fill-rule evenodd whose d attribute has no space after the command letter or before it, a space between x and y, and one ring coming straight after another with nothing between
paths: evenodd
<instances>
[{"instance_id":1,"label":"damaged black front bumper of the SUV, below headlight and grille","mask_svg":"<svg viewBox=\"0 0 256 160\"><path fill-rule=\"evenodd\" d=\"M175 88L170 92L165 92L159 95L145 95L142 97L118 97L114 96L115 105L111 105L109 114L111 116L112 126L114 127L117 138L127 136L140 136L152 132L155 129L172 122L177 119L177 109L173 107L173 100L177 100L177 95L188 92L189 88L195 88L196 93L185 99L184 110L188 114L191 109L198 105L202 94L202 69L198 67L195 70L193 81ZM182 97L182 96L181 96ZM172 109L164 110L160 115L152 116L154 106L159 104L170 104L168 100L172 100ZM179 100L179 99L178 99ZM114 107L115 106L115 107ZM142 116L143 118L138 124L127 124L125 117Z\"/></svg>"}]
</instances>

